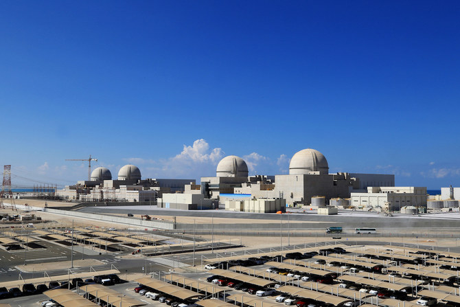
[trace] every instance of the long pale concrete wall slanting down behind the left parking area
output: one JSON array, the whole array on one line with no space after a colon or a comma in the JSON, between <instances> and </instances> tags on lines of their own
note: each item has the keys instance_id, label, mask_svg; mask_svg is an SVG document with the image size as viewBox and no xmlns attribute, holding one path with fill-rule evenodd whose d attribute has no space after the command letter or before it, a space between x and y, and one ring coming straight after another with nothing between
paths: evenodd
<instances>
[{"instance_id":1,"label":"long pale concrete wall slanting down behind the left parking area","mask_svg":"<svg viewBox=\"0 0 460 307\"><path fill-rule=\"evenodd\" d=\"M91 220L103 220L104 222L135 225L141 227L151 227L160 229L175 229L174 223L164 220L138 220L136 218L124 218L122 216L106 216L103 214L91 214L86 212L65 211L58 209L45 208L45 212L64 216L74 216L76 218L89 218Z\"/></svg>"}]
</instances>

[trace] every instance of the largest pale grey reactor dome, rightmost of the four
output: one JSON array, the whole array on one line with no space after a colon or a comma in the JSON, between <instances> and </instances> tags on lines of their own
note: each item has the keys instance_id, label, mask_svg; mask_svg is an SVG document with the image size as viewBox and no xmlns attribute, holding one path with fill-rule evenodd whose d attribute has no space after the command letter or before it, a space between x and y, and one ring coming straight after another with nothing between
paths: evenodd
<instances>
[{"instance_id":1,"label":"largest pale grey reactor dome, rightmost of the four","mask_svg":"<svg viewBox=\"0 0 460 307\"><path fill-rule=\"evenodd\" d=\"M308 174L308 172L318 172L329 174L329 166L324 155L318 150L311 148L300 150L292 156L289 163L289 174Z\"/></svg>"}]
</instances>

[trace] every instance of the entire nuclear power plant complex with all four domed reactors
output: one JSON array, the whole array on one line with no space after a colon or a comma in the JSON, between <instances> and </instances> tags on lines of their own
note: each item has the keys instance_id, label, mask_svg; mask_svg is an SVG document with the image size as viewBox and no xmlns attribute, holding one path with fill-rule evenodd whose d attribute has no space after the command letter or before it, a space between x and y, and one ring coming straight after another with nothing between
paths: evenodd
<instances>
[{"instance_id":1,"label":"entire nuclear power plant complex with all four domed reactors","mask_svg":"<svg viewBox=\"0 0 460 307\"><path fill-rule=\"evenodd\" d=\"M148 202L171 209L213 209L220 204L247 212L427 207L426 187L395 187L393 174L330 173L326 157L311 148L292 155L288 174L250 175L244 159L229 155L218 163L215 177L201 177L196 184L195 179L142 179L141 170L129 164L120 168L117 179L107 168L95 168L90 181L67 185L57 195L72 201Z\"/></svg>"}]
</instances>

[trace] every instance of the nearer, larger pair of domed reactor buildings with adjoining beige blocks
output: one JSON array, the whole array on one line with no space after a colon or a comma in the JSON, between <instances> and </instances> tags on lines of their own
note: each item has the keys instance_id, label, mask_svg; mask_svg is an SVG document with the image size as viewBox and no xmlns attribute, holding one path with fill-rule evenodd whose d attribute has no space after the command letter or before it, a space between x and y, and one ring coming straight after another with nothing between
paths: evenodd
<instances>
[{"instance_id":1,"label":"nearer, larger pair of domed reactor buildings with adjoining beige blocks","mask_svg":"<svg viewBox=\"0 0 460 307\"><path fill-rule=\"evenodd\" d=\"M202 177L200 191L220 203L251 198L283 198L288 206L311 205L312 197L349 198L351 192L366 192L372 183L392 187L393 174L329 174L327 159L311 148L300 150L290 160L289 174L248 176L246 162L228 156L218 163L216 177ZM185 190L188 190L187 187ZM314 204L313 204L314 205Z\"/></svg>"}]
</instances>

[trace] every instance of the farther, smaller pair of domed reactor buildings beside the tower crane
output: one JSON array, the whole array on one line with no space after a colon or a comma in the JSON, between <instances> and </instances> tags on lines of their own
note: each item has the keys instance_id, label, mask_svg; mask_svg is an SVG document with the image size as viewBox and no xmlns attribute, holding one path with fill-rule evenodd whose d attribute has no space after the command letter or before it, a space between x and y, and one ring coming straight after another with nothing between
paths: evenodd
<instances>
[{"instance_id":1,"label":"farther, smaller pair of domed reactor buildings beside the tower crane","mask_svg":"<svg viewBox=\"0 0 460 307\"><path fill-rule=\"evenodd\" d=\"M165 192L183 192L186 184L195 179L141 179L137 166L128 164L120 168L116 180L107 168L95 168L91 180L78 181L56 191L56 196L71 201L115 201L156 203Z\"/></svg>"}]
</instances>

